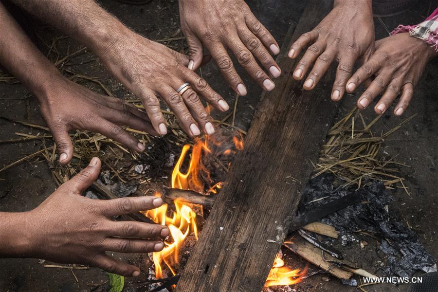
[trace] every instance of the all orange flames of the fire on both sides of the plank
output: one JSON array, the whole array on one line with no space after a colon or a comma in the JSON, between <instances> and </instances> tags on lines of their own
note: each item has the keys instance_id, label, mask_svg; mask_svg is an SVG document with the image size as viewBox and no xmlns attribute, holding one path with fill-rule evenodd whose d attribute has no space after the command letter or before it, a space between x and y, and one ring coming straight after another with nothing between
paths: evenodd
<instances>
[{"instance_id":1,"label":"all orange flames of the fire on both sides of the plank","mask_svg":"<svg viewBox=\"0 0 438 292\"><path fill-rule=\"evenodd\" d=\"M171 187L185 190L193 190L201 194L216 194L218 189L223 186L223 182L213 183L210 172L203 164L202 158L213 155L230 155L235 154L235 150L243 149L243 139L240 136L233 137L233 145L223 147L224 141L215 139L212 136L205 136L203 140L196 139L192 148L191 158L188 163L187 171L182 170L184 160L190 150L190 145L184 145L181 155L172 171ZM234 146L234 149L232 149ZM213 149L214 148L214 149ZM225 148L225 150L221 150ZM220 149L217 151L217 149ZM205 184L209 185L205 185ZM205 191L207 189L207 191ZM161 197L159 192L155 196ZM175 200L175 211L171 211L167 204L153 210L148 210L145 215L157 224L169 227L170 236L164 241L164 249L152 254L152 260L155 265L155 277L163 278L163 263L169 271L175 275L175 268L179 263L180 249L184 240L193 233L198 240L198 225L196 222L197 212L202 214L202 206L189 204L183 201ZM268 275L265 287L276 285L292 285L298 283L305 271L292 270L284 266L284 261L276 257L274 266Z\"/></svg>"}]
</instances>

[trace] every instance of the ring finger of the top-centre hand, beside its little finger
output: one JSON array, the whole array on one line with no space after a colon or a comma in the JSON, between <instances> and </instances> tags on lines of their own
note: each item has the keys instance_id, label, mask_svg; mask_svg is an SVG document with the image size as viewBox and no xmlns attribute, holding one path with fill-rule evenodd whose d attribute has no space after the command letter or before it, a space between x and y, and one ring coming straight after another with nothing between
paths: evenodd
<instances>
[{"instance_id":1,"label":"ring finger of the top-centre hand, beside its little finger","mask_svg":"<svg viewBox=\"0 0 438 292\"><path fill-rule=\"evenodd\" d=\"M277 78L281 74L280 67L275 63L273 57L269 54L260 40L248 29L243 28L237 31L243 44L250 50L263 67L271 73L271 76Z\"/></svg>"}]
</instances>

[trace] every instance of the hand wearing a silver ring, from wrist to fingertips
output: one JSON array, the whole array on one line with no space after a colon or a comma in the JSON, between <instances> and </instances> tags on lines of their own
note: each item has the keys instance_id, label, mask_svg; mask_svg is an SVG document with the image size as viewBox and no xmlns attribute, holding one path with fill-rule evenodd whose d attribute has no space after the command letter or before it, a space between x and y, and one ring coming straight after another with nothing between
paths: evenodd
<instances>
[{"instance_id":1,"label":"hand wearing a silver ring, from wrist to fingertips","mask_svg":"<svg viewBox=\"0 0 438 292\"><path fill-rule=\"evenodd\" d=\"M153 128L162 135L167 129L156 95L164 99L183 130L192 137L201 133L198 126L209 135L215 132L199 95L218 110L229 109L204 79L186 68L189 63L186 55L131 31L125 30L106 48L96 49L96 54L110 72L142 100ZM192 88L179 94L176 90L186 82Z\"/></svg>"}]
</instances>

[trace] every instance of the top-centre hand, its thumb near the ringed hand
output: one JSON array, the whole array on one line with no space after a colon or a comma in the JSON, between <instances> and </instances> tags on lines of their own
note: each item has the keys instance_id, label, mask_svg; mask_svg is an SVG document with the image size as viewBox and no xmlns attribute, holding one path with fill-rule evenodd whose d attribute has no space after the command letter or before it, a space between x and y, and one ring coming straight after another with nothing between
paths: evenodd
<instances>
[{"instance_id":1,"label":"top-centre hand, its thumb near the ringed hand","mask_svg":"<svg viewBox=\"0 0 438 292\"><path fill-rule=\"evenodd\" d=\"M189 69L196 70L200 66L204 44L233 90L246 95L246 87L227 53L228 48L260 87L266 91L274 89L274 82L256 60L276 78L281 70L268 49L274 55L280 49L243 0L180 0L179 3L181 30L189 45Z\"/></svg>"}]
</instances>

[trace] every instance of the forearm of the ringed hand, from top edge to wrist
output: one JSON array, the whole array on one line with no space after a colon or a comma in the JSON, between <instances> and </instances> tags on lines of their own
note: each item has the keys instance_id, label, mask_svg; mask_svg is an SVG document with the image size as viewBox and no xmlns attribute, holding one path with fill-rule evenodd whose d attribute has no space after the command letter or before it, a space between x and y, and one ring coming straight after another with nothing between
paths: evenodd
<instances>
[{"instance_id":1,"label":"forearm of the ringed hand, from top edge to wrist","mask_svg":"<svg viewBox=\"0 0 438 292\"><path fill-rule=\"evenodd\" d=\"M132 31L93 0L12 1L81 42L97 55L105 54L112 44L132 34Z\"/></svg>"}]
</instances>

